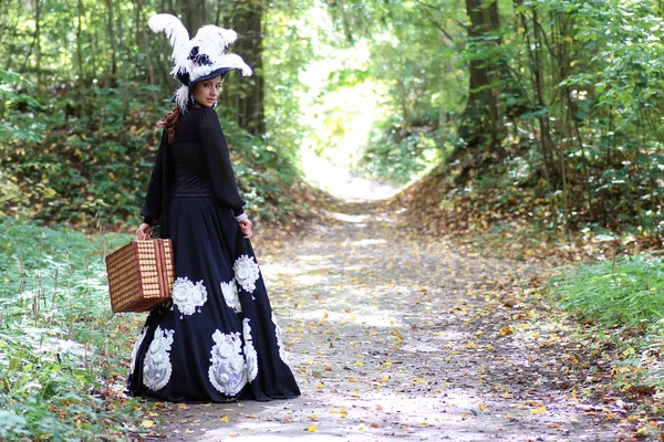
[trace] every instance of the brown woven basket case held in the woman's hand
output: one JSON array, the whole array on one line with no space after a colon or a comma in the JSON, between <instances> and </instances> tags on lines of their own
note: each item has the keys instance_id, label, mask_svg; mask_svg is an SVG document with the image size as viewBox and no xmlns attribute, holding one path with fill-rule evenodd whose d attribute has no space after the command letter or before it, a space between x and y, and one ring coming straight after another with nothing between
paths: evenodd
<instances>
[{"instance_id":1,"label":"brown woven basket case held in the woman's hand","mask_svg":"<svg viewBox=\"0 0 664 442\"><path fill-rule=\"evenodd\" d=\"M175 271L170 240L134 240L106 256L113 312L146 312L170 297Z\"/></svg>"}]
</instances>

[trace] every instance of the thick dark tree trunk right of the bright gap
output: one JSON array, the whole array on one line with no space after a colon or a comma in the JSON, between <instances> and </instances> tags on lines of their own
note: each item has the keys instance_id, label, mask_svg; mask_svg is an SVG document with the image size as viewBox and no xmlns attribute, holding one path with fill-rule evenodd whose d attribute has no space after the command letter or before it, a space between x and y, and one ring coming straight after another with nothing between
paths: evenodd
<instances>
[{"instance_id":1,"label":"thick dark tree trunk right of the bright gap","mask_svg":"<svg viewBox=\"0 0 664 442\"><path fill-rule=\"evenodd\" d=\"M481 41L500 25L496 0L466 0L466 12L470 18L468 36L473 41ZM496 145L498 139L499 90L494 85L498 76L484 60L470 61L469 71L468 104L461 115L459 135L468 146L487 148Z\"/></svg>"}]
</instances>

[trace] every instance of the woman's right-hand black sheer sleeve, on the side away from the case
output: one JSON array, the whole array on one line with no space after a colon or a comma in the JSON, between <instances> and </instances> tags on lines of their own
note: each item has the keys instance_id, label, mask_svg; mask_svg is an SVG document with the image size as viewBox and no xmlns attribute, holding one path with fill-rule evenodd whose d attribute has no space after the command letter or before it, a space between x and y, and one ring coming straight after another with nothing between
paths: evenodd
<instances>
[{"instance_id":1,"label":"woman's right-hand black sheer sleeve, on the side away from the case","mask_svg":"<svg viewBox=\"0 0 664 442\"><path fill-rule=\"evenodd\" d=\"M228 146L221 131L219 117L211 108L205 108L200 114L200 143L212 192L217 201L231 208L237 217L245 212L242 207L246 202L238 192L238 183L230 164Z\"/></svg>"}]
</instances>

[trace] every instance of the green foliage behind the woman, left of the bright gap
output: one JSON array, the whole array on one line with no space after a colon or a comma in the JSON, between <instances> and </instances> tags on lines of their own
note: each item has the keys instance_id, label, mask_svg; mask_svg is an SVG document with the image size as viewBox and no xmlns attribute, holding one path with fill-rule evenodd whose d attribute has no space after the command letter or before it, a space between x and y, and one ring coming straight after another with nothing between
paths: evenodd
<instances>
[{"instance_id":1,"label":"green foliage behind the woman, left of the bright gap","mask_svg":"<svg viewBox=\"0 0 664 442\"><path fill-rule=\"evenodd\" d=\"M246 7L240 3L219 10L215 6L214 19L232 17ZM305 8L308 2L300 4ZM298 106L288 87L297 81L308 45L305 40L298 50L295 43L283 44L300 33L297 27L280 27L289 20L287 7L280 3L269 15L266 11L279 31L266 40L270 50L264 72L259 72L268 77L270 91L278 91L267 93L268 134L251 138L232 123L237 103L219 106L230 149L237 149L248 209L263 220L286 217L283 209L292 208L286 189L299 177ZM160 135L156 122L170 110L164 98L172 96L175 84L167 40L147 28L147 18L160 8L155 1L125 0L0 4L0 56L9 66L0 71L3 213L84 228L138 222ZM178 3L173 12L185 10ZM186 13L180 17L186 22ZM224 87L238 86L225 82Z\"/></svg>"}]
</instances>

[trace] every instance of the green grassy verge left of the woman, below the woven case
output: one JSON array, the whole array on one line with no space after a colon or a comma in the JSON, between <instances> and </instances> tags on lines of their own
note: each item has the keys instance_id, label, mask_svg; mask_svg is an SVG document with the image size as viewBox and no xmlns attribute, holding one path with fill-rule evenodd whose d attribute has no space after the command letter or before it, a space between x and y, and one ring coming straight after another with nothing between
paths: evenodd
<instances>
[{"instance_id":1,"label":"green grassy verge left of the woman, below the woven case","mask_svg":"<svg viewBox=\"0 0 664 442\"><path fill-rule=\"evenodd\" d=\"M104 263L129 239L0 219L0 440L139 433L123 391L143 316L111 312Z\"/></svg>"}]
</instances>

